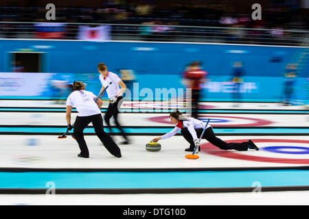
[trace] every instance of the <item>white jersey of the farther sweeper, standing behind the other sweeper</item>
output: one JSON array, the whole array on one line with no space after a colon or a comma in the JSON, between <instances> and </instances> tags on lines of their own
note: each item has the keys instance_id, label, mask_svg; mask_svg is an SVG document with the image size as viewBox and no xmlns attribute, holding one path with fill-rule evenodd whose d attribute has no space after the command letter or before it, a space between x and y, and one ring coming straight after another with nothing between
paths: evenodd
<instances>
[{"instance_id":1,"label":"white jersey of the farther sweeper, standing behind the other sweeper","mask_svg":"<svg viewBox=\"0 0 309 219\"><path fill-rule=\"evenodd\" d=\"M101 81L102 86L104 88L106 88L106 86L108 86L108 88L106 89L106 92L107 92L109 99L112 99L114 96L116 96L118 94L118 92L120 90L118 83L120 81L122 81L122 79L120 79L118 77L118 75L108 71L107 76L105 78L101 74L100 74L99 78L100 78L100 81ZM111 83L111 84L109 84L109 83ZM120 96L122 96L122 94Z\"/></svg>"}]
</instances>

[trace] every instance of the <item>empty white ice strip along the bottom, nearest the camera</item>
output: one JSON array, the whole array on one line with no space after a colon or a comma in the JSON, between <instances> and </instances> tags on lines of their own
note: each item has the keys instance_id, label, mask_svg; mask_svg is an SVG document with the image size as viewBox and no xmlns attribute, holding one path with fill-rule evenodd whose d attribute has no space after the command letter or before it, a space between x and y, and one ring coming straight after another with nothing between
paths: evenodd
<instances>
[{"instance_id":1,"label":"empty white ice strip along the bottom, nearest the camera","mask_svg":"<svg viewBox=\"0 0 309 219\"><path fill-rule=\"evenodd\" d=\"M0 194L0 205L309 205L309 191L185 194ZM185 207L184 207L185 208ZM135 207L138 209L138 207Z\"/></svg>"}]
</instances>

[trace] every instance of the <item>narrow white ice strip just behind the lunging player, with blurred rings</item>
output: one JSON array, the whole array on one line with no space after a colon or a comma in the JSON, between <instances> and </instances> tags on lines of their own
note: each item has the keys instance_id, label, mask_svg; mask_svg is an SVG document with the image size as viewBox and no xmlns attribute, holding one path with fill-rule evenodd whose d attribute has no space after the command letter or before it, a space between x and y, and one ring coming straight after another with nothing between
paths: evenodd
<instances>
[{"instance_id":1,"label":"narrow white ice strip just behind the lunging player, with blurred rings","mask_svg":"<svg viewBox=\"0 0 309 219\"><path fill-rule=\"evenodd\" d=\"M71 123L75 121L77 114L71 114ZM104 114L102 114L104 116ZM167 123L154 122L150 118L157 116L165 116L163 120ZM224 123L212 123L215 126L225 125L242 125L250 126L249 124L256 123L252 119L262 119L271 122L264 124L273 127L309 127L308 115L297 114L201 114L205 118L212 118L214 121L228 120ZM220 117L218 117L220 116ZM119 114L119 122L124 126L162 126L172 127L169 114ZM41 113L41 112L1 112L0 125L67 125L65 120L65 112L63 113ZM104 125L105 122L104 122ZM114 120L111 118L111 125L114 125ZM264 126L261 124L261 126Z\"/></svg>"}]
</instances>

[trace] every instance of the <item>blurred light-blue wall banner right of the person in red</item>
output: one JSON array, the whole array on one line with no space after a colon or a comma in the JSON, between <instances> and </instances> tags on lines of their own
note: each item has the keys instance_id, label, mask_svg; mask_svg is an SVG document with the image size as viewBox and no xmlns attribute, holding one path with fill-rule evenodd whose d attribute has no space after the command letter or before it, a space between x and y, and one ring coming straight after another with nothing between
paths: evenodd
<instances>
[{"instance_id":1,"label":"blurred light-blue wall banner right of the person in red","mask_svg":"<svg viewBox=\"0 0 309 219\"><path fill-rule=\"evenodd\" d=\"M202 99L231 99L239 97L255 101L284 101L286 83L284 77L243 77L244 82L234 83L229 77L211 77L204 83ZM309 80L304 77L295 79L290 98L294 104L308 104ZM240 95L234 95L234 94Z\"/></svg>"}]
</instances>

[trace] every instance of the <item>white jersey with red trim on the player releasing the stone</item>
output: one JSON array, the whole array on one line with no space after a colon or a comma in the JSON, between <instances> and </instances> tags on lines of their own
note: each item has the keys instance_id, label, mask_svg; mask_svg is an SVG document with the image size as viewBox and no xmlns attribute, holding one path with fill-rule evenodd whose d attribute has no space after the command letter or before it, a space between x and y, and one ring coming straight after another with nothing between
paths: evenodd
<instances>
[{"instance_id":1,"label":"white jersey with red trim on the player releasing the stone","mask_svg":"<svg viewBox=\"0 0 309 219\"><path fill-rule=\"evenodd\" d=\"M193 140L196 140L198 138L196 136L195 129L204 129L205 125L206 123L196 118L187 118L187 120L183 120L182 124L181 124L181 121L179 121L179 123L176 124L174 129L172 129L172 131L166 133L165 135L161 136L161 139L170 138L176 135L176 133L178 133L181 129L187 128L187 130L190 131ZM208 123L206 129L208 129L209 127L211 127L211 125L209 125Z\"/></svg>"}]
</instances>

